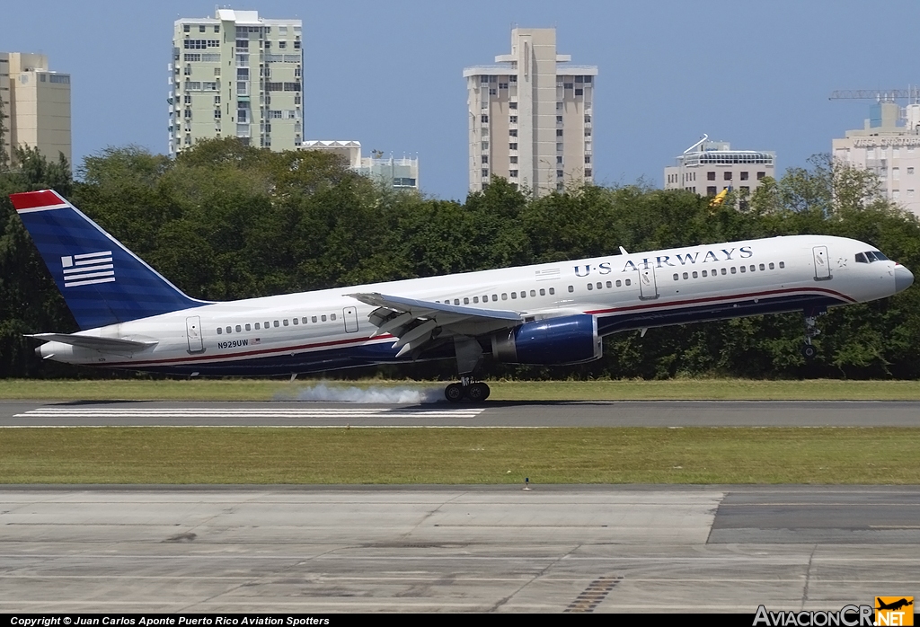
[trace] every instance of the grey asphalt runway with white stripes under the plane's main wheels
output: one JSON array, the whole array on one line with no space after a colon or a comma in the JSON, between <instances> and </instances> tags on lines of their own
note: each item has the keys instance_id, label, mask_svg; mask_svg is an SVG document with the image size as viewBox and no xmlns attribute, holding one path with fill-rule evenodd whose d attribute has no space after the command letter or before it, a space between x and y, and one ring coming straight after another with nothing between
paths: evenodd
<instances>
[{"instance_id":1,"label":"grey asphalt runway with white stripes under the plane's main wheels","mask_svg":"<svg viewBox=\"0 0 920 627\"><path fill-rule=\"evenodd\" d=\"M920 403L850 401L0 402L11 427L920 427Z\"/></svg>"}]
</instances>

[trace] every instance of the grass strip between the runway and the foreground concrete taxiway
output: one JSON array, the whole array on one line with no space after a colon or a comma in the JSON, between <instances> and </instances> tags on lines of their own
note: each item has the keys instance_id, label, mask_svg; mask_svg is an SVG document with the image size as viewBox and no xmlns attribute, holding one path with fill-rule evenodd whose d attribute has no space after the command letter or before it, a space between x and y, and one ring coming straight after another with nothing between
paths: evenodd
<instances>
[{"instance_id":1,"label":"grass strip between the runway and the foreground concrete taxiway","mask_svg":"<svg viewBox=\"0 0 920 627\"><path fill-rule=\"evenodd\" d=\"M3 484L920 483L916 428L6 428Z\"/></svg>"}]
</instances>

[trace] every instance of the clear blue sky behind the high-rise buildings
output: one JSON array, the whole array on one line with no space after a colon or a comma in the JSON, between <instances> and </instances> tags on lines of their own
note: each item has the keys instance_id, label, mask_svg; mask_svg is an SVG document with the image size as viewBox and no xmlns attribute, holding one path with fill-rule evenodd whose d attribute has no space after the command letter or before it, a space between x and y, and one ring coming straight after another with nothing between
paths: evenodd
<instances>
[{"instance_id":1,"label":"clear blue sky behind the high-rise buildings","mask_svg":"<svg viewBox=\"0 0 920 627\"><path fill-rule=\"evenodd\" d=\"M3 51L40 51L72 75L74 159L106 146L167 150L172 23L213 16L201 2L8 3ZM906 89L920 38L915 0L636 2L293 2L231 5L300 17L305 136L354 139L364 153L418 154L423 191L466 196L466 65L510 51L512 25L556 27L558 50L598 65L594 173L645 177L711 139L776 151L780 170L859 128L869 101L834 89Z\"/></svg>"}]
</instances>

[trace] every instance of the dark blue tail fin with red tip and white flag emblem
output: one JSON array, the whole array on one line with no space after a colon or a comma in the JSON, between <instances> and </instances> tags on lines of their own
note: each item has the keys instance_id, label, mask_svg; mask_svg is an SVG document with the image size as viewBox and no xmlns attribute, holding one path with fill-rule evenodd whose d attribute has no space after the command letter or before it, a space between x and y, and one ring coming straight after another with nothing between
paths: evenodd
<instances>
[{"instance_id":1,"label":"dark blue tail fin with red tip and white flag emblem","mask_svg":"<svg viewBox=\"0 0 920 627\"><path fill-rule=\"evenodd\" d=\"M81 329L207 304L179 291L57 192L10 199Z\"/></svg>"}]
</instances>

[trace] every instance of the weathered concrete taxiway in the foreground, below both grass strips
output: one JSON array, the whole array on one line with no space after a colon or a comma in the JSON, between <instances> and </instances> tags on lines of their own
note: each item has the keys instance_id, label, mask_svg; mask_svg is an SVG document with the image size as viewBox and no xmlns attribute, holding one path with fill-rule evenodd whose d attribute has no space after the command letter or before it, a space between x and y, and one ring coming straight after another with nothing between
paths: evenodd
<instances>
[{"instance_id":1,"label":"weathered concrete taxiway in the foreground, below both grass strips","mask_svg":"<svg viewBox=\"0 0 920 627\"><path fill-rule=\"evenodd\" d=\"M839 610L920 589L920 488L0 489L2 612Z\"/></svg>"}]
</instances>

